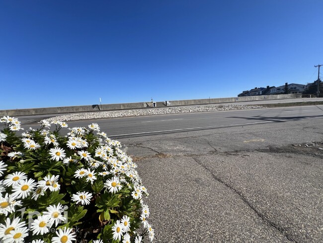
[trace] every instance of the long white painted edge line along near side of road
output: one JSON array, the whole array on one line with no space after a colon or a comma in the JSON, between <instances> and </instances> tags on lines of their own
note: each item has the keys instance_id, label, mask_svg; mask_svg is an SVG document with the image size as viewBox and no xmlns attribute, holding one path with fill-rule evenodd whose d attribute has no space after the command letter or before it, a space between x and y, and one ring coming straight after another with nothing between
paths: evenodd
<instances>
[{"instance_id":1,"label":"long white painted edge line along near side of road","mask_svg":"<svg viewBox=\"0 0 323 243\"><path fill-rule=\"evenodd\" d=\"M197 127L189 127L189 128L170 129L170 130L145 131L145 132L136 132L136 133L127 133L127 134L117 134L117 135L110 135L109 137L144 135L144 134L149 134L149 133L159 133L159 132L169 132L169 131L185 131L185 130L195 130L195 129L203 129L203 128L217 128L217 127L226 127L226 126L255 125L255 124L263 124L263 123L271 123L271 122L286 122L286 121L288 121L288 120L281 119L281 120L275 120L275 121L250 122L250 123L244 123L244 124L224 124L224 125L197 126Z\"/></svg>"}]
</instances>

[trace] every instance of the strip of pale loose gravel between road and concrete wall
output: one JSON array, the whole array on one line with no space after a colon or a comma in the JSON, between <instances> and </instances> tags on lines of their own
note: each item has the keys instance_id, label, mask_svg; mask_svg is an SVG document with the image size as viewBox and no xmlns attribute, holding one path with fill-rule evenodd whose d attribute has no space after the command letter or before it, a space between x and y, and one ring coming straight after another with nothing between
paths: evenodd
<instances>
[{"instance_id":1,"label":"strip of pale loose gravel between road and concrete wall","mask_svg":"<svg viewBox=\"0 0 323 243\"><path fill-rule=\"evenodd\" d=\"M247 110L265 108L262 106L194 106L194 107L167 107L167 108L147 108L136 110L123 110L123 111L106 111L106 112L87 112L69 114L59 117L46 119L52 121L79 121L90 119L102 118L122 118L122 117L135 117L135 116L148 116L148 115L164 115L175 113L192 113L192 112L214 112L214 111L231 111L231 110Z\"/></svg>"}]
</instances>

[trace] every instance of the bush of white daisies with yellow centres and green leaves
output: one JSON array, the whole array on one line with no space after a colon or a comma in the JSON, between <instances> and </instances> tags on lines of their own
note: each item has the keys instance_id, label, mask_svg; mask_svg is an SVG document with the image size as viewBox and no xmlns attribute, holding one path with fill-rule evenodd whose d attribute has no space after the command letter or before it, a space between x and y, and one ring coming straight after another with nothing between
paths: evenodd
<instances>
[{"instance_id":1,"label":"bush of white daisies with yellow centres and green leaves","mask_svg":"<svg viewBox=\"0 0 323 243\"><path fill-rule=\"evenodd\" d=\"M96 123L62 136L65 122L21 135L17 119L0 122L1 243L153 241L137 165Z\"/></svg>"}]
</instances>

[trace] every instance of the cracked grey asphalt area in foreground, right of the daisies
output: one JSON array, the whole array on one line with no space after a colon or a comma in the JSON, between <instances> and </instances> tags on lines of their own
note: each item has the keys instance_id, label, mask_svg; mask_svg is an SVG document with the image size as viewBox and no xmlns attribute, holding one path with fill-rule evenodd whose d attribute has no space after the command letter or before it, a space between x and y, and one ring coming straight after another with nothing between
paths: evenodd
<instances>
[{"instance_id":1,"label":"cracked grey asphalt area in foreground, right of the daisies","mask_svg":"<svg viewBox=\"0 0 323 243\"><path fill-rule=\"evenodd\" d=\"M119 139L155 242L323 242L321 120Z\"/></svg>"}]
</instances>

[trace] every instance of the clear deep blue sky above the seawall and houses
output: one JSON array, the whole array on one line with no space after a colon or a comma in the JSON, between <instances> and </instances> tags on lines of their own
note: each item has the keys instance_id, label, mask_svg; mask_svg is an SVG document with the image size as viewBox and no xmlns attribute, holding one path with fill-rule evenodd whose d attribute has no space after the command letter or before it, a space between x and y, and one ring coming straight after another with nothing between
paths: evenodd
<instances>
[{"instance_id":1,"label":"clear deep blue sky above the seawall and houses","mask_svg":"<svg viewBox=\"0 0 323 243\"><path fill-rule=\"evenodd\" d=\"M0 0L0 110L306 84L323 0Z\"/></svg>"}]
</instances>

